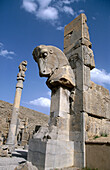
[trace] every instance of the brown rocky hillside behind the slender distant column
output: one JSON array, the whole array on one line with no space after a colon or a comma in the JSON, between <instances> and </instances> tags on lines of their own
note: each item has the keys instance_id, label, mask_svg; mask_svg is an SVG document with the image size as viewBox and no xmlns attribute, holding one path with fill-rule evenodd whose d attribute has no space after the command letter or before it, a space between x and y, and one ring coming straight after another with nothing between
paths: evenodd
<instances>
[{"instance_id":1,"label":"brown rocky hillside behind the slender distant column","mask_svg":"<svg viewBox=\"0 0 110 170\"><path fill-rule=\"evenodd\" d=\"M11 118L13 105L0 100L0 131L7 133L8 120ZM19 118L28 118L28 130L31 132L36 125L47 125L49 116L26 107L20 107Z\"/></svg>"}]
</instances>

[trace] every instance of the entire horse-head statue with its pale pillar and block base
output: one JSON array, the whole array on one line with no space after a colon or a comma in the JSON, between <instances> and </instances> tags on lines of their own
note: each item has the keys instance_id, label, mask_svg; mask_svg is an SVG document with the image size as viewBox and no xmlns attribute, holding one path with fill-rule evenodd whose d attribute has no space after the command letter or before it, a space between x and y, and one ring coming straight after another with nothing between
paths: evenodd
<instances>
[{"instance_id":1,"label":"entire horse-head statue with its pale pillar and block base","mask_svg":"<svg viewBox=\"0 0 110 170\"><path fill-rule=\"evenodd\" d=\"M38 169L67 168L74 165L74 141L69 140L74 74L65 54L54 46L38 46L33 56L40 76L48 77L46 84L52 96L49 125L41 127L29 141L28 160Z\"/></svg>"}]
</instances>

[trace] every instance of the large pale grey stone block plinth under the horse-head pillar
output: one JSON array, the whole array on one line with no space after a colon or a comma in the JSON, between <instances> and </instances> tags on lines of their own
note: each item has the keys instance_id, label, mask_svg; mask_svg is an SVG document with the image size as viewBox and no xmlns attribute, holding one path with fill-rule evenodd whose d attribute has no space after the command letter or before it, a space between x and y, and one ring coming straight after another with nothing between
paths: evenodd
<instances>
[{"instance_id":1,"label":"large pale grey stone block plinth under the horse-head pillar","mask_svg":"<svg viewBox=\"0 0 110 170\"><path fill-rule=\"evenodd\" d=\"M48 140L47 142L31 139L28 160L38 169L54 169L74 164L74 142Z\"/></svg>"}]
</instances>

